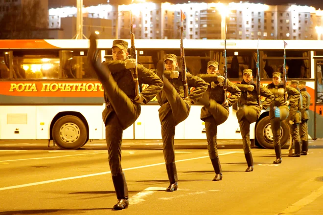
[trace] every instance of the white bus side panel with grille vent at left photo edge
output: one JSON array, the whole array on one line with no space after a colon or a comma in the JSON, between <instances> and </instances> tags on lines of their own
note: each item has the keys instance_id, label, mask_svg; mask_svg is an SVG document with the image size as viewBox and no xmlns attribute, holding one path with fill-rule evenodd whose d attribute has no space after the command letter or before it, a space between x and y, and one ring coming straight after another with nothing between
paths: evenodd
<instances>
[{"instance_id":1,"label":"white bus side panel with grille vent at left photo edge","mask_svg":"<svg viewBox=\"0 0 323 215\"><path fill-rule=\"evenodd\" d=\"M2 140L35 140L36 107L1 106L0 128Z\"/></svg>"}]
</instances>

